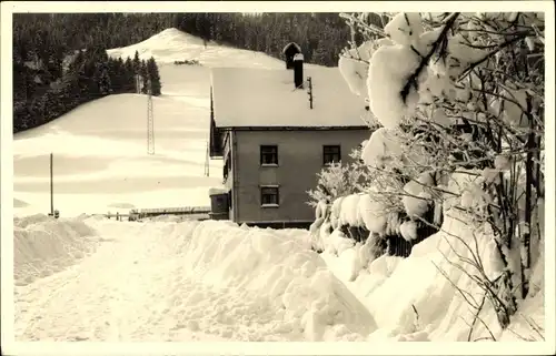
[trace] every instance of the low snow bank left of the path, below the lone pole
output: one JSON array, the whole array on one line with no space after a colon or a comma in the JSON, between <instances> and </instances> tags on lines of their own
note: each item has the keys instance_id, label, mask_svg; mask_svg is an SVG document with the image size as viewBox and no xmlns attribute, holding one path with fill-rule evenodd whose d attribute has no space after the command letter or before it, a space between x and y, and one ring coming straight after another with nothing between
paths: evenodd
<instances>
[{"instance_id":1,"label":"low snow bank left of the path, below the lone pole","mask_svg":"<svg viewBox=\"0 0 556 356\"><path fill-rule=\"evenodd\" d=\"M13 220L13 278L27 285L92 253L96 232L80 218L37 214Z\"/></svg>"}]
</instances>

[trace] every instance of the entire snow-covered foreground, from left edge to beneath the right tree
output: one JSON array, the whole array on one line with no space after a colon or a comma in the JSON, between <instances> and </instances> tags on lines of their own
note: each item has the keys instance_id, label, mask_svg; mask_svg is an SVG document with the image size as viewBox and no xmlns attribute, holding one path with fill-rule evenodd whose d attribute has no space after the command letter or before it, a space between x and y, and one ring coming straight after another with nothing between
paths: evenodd
<instances>
[{"instance_id":1,"label":"entire snow-covered foreground, from left edge to beneath the right tree","mask_svg":"<svg viewBox=\"0 0 556 356\"><path fill-rule=\"evenodd\" d=\"M477 292L443 263L440 233L408 258L365 266L364 246L319 255L301 230L172 217L14 223L17 340L466 340L470 312L433 263ZM540 340L532 325L546 327L543 268L536 265L533 297L510 330L493 327L496 316L485 308L497 339ZM485 333L477 326L473 337Z\"/></svg>"}]
</instances>

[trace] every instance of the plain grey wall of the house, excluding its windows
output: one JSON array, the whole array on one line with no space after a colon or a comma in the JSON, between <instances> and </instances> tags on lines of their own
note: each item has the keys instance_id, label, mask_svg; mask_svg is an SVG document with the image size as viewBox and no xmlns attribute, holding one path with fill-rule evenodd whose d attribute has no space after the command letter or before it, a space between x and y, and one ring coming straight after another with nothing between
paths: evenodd
<instances>
[{"instance_id":1,"label":"plain grey wall of the house, excluding its windows","mask_svg":"<svg viewBox=\"0 0 556 356\"><path fill-rule=\"evenodd\" d=\"M312 222L315 211L306 202L308 190L317 184L324 167L322 145L339 144L341 161L370 135L368 130L315 131L235 131L231 144L236 172L235 199L230 218L237 223ZM232 140L230 140L232 141ZM260 165L260 145L278 145L278 166ZM234 153L235 150L235 153ZM230 172L227 185L231 187ZM260 206L260 185L279 185L279 207ZM236 218L234 218L234 216Z\"/></svg>"}]
</instances>

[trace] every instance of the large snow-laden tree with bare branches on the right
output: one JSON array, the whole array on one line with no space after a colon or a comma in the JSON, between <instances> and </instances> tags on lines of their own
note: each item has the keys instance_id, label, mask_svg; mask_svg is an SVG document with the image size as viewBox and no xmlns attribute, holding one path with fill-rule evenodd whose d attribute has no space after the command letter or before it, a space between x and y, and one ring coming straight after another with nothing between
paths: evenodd
<instances>
[{"instance_id":1,"label":"large snow-laden tree with bare branches on the right","mask_svg":"<svg viewBox=\"0 0 556 356\"><path fill-rule=\"evenodd\" d=\"M365 42L339 70L381 125L363 149L368 193L406 214L401 234L448 217L488 232L490 263L459 237L460 263L507 327L543 231L544 13L341 16Z\"/></svg>"}]
</instances>

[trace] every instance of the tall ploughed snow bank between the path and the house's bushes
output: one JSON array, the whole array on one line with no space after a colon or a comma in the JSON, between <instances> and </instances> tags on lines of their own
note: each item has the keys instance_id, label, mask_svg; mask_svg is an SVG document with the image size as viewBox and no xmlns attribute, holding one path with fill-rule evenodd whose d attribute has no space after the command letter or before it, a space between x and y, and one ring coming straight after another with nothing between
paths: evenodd
<instances>
[{"instance_id":1,"label":"tall ploughed snow bank between the path and the house's bushes","mask_svg":"<svg viewBox=\"0 0 556 356\"><path fill-rule=\"evenodd\" d=\"M256 293L299 339L360 340L375 329L368 311L310 251L306 231L206 221L183 251L192 277Z\"/></svg>"}]
</instances>

